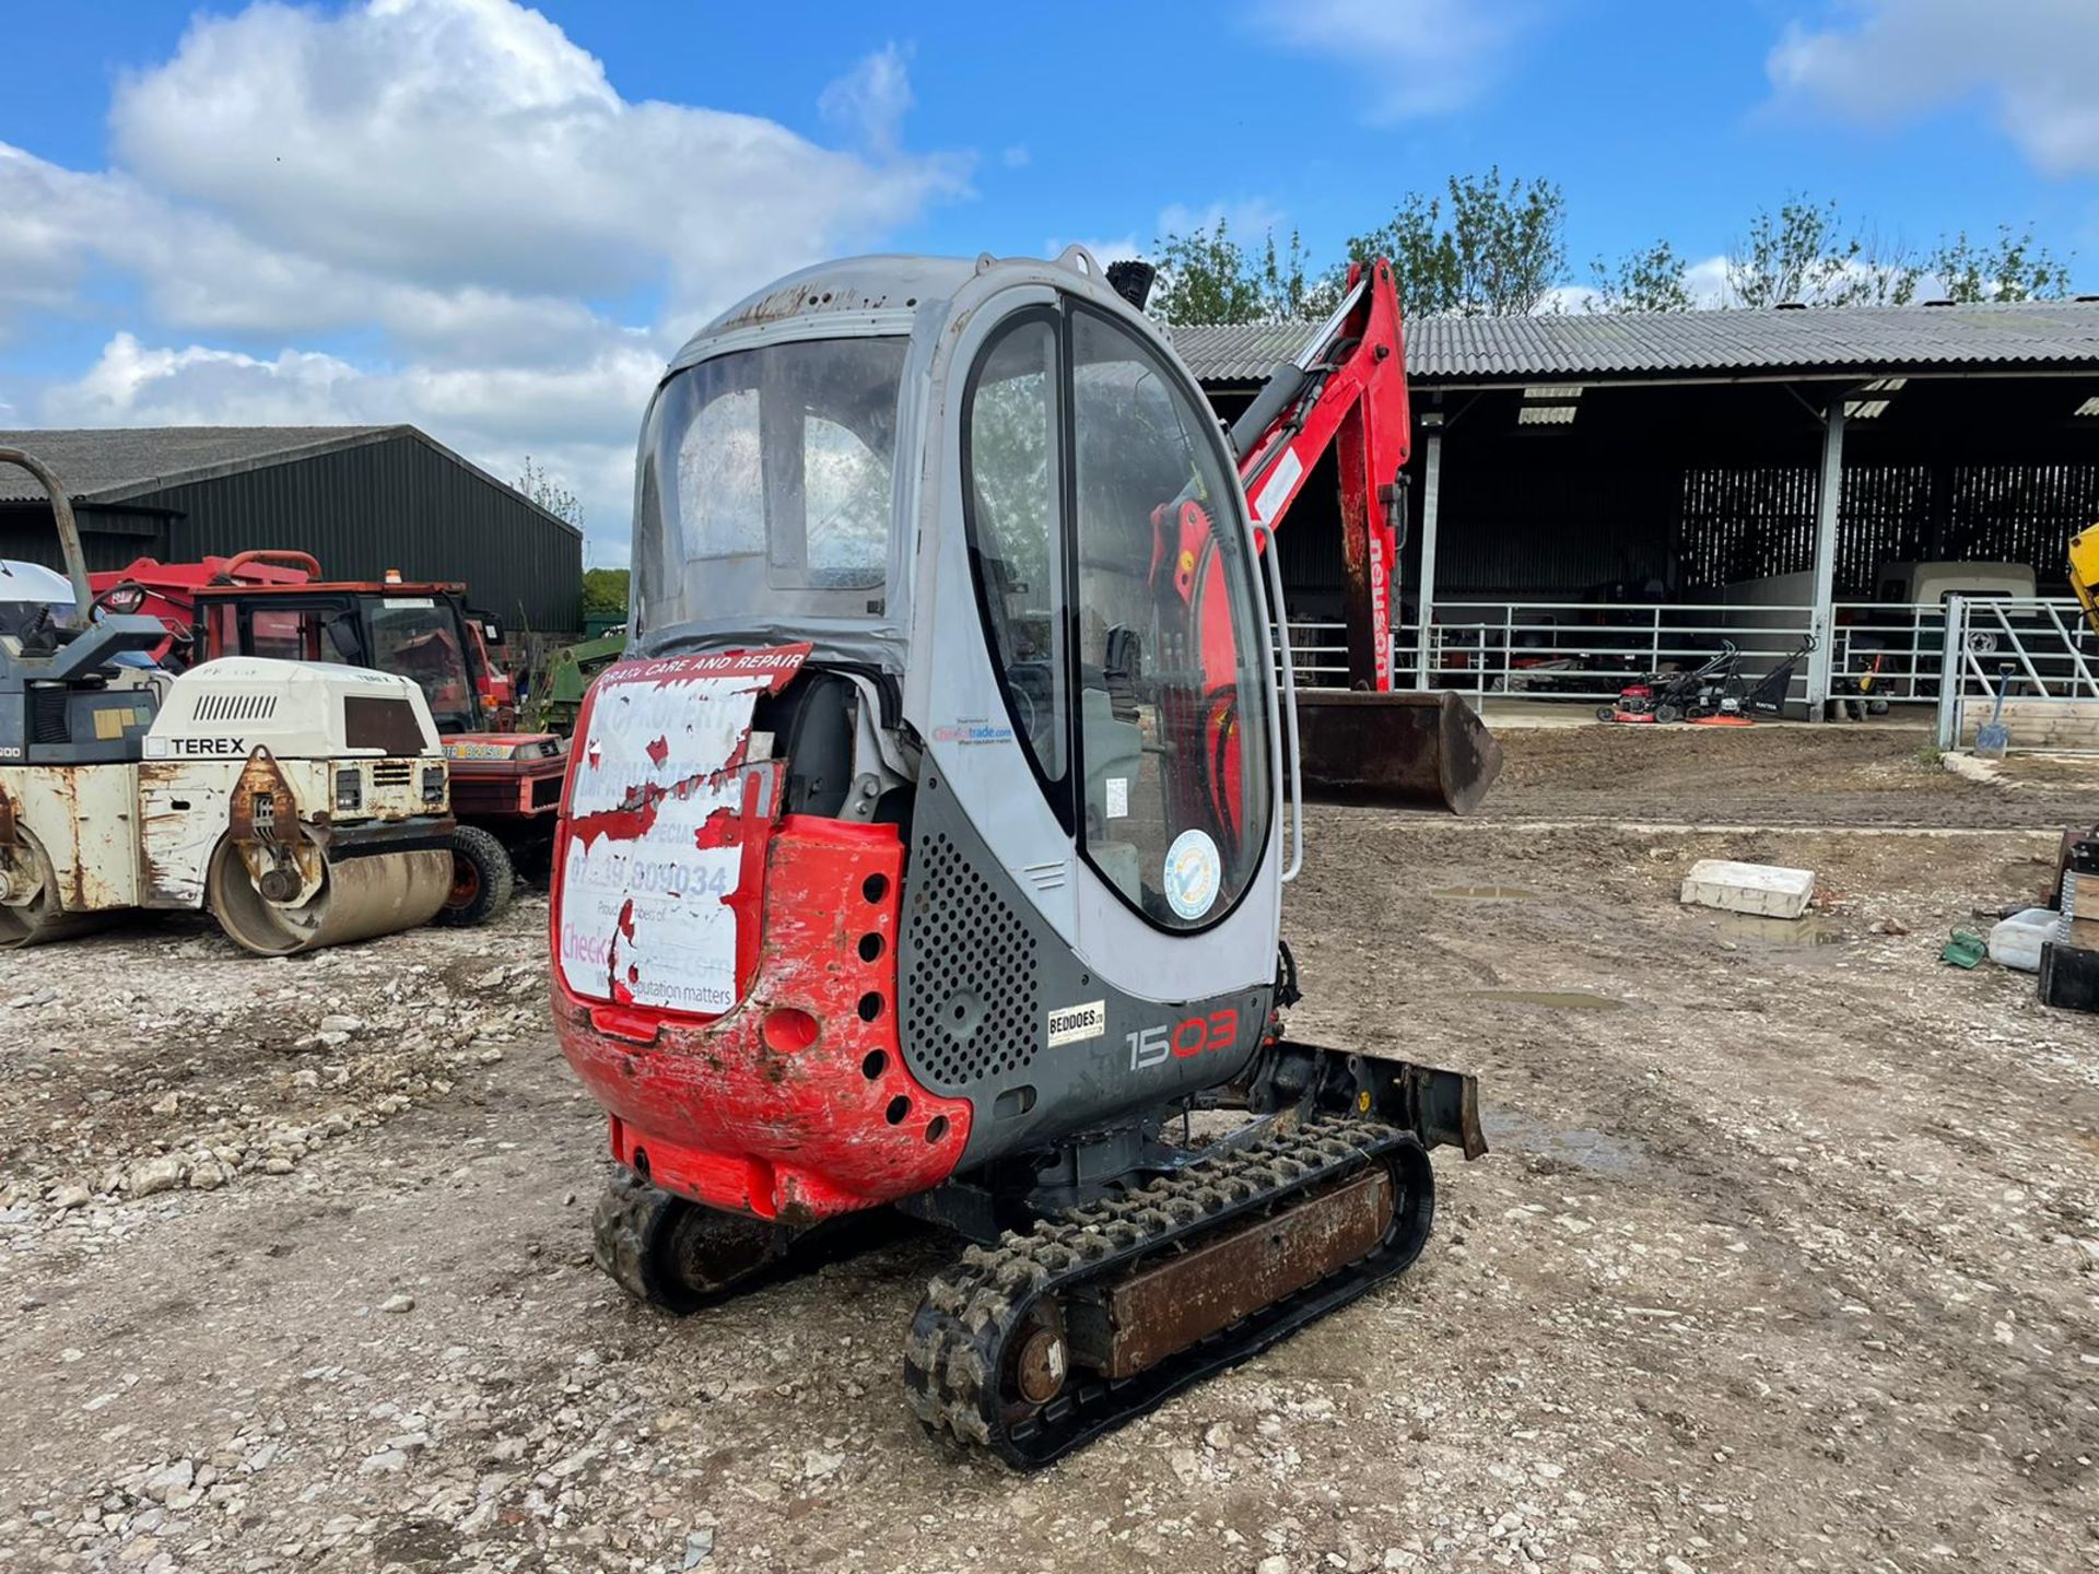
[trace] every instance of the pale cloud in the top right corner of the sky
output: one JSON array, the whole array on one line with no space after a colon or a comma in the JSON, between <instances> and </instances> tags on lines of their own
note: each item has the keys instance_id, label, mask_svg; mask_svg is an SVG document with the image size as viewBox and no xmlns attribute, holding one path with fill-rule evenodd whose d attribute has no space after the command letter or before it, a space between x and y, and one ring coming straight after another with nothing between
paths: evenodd
<instances>
[{"instance_id":1,"label":"pale cloud in the top right corner of the sky","mask_svg":"<svg viewBox=\"0 0 2099 1574\"><path fill-rule=\"evenodd\" d=\"M2099 172L2095 0L1845 0L1790 23L1765 63L1780 94L1862 122L1984 97L2042 170Z\"/></svg>"}]
</instances>

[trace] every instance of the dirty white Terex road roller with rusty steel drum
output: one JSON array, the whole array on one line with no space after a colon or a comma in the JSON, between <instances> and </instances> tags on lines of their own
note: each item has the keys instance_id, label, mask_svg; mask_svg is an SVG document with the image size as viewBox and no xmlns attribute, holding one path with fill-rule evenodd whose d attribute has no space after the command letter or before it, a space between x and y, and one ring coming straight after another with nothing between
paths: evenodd
<instances>
[{"instance_id":1,"label":"dirty white Terex road roller with rusty steel drum","mask_svg":"<svg viewBox=\"0 0 2099 1574\"><path fill-rule=\"evenodd\" d=\"M0 946L128 909L210 909L260 955L428 923L451 890L430 707L365 667L227 657L170 678L166 630L88 592L63 483L38 460L67 565L0 560Z\"/></svg>"}]
</instances>

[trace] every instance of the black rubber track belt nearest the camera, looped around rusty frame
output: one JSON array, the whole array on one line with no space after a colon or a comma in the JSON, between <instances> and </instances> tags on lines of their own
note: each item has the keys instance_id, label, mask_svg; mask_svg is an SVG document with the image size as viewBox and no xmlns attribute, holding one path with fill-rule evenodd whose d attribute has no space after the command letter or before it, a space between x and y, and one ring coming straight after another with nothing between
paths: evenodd
<instances>
[{"instance_id":1,"label":"black rubber track belt nearest the camera, looped around rusty frame","mask_svg":"<svg viewBox=\"0 0 2099 1574\"><path fill-rule=\"evenodd\" d=\"M1354 1272L1337 1270L1121 1383L1073 1373L1050 1406L1018 1427L1008 1425L999 1377L1012 1339L1029 1326L1029 1312L1041 1297L1115 1274L1379 1161L1398 1165L1404 1190L1394 1198L1385 1245ZM989 1448L1008 1465L1037 1469L1392 1278L1419 1257L1432 1217L1434 1175L1411 1131L1348 1119L1266 1137L1041 1219L1029 1234L1008 1232L995 1247L966 1249L926 1286L911 1320L905 1398L932 1431Z\"/></svg>"}]
</instances>

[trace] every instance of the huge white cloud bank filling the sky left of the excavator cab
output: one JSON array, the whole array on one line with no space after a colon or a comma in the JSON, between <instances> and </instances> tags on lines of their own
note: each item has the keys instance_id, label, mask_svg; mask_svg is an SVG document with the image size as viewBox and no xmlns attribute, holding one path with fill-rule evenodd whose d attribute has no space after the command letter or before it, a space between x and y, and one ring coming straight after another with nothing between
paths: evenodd
<instances>
[{"instance_id":1,"label":"huge white cloud bank filling the sky left of the excavator cab","mask_svg":"<svg viewBox=\"0 0 2099 1574\"><path fill-rule=\"evenodd\" d=\"M506 476L531 451L617 556L665 355L968 191L966 157L903 145L898 46L819 107L846 147L628 101L514 0L199 15L120 80L111 168L0 143L0 336L25 311L111 329L10 399L48 424L414 422Z\"/></svg>"}]
</instances>

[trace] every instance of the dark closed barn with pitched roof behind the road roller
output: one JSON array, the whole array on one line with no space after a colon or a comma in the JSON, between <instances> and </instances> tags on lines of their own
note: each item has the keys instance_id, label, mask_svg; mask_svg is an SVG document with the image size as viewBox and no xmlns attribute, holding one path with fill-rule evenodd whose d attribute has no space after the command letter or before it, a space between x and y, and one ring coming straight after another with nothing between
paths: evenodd
<instances>
[{"instance_id":1,"label":"dark closed barn with pitched roof behind the road roller","mask_svg":"<svg viewBox=\"0 0 2099 1574\"><path fill-rule=\"evenodd\" d=\"M90 569L292 548L330 577L464 579L510 628L581 630L584 537L414 426L0 430L65 481ZM36 481L0 468L0 558L57 567Z\"/></svg>"}]
</instances>

